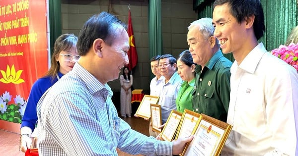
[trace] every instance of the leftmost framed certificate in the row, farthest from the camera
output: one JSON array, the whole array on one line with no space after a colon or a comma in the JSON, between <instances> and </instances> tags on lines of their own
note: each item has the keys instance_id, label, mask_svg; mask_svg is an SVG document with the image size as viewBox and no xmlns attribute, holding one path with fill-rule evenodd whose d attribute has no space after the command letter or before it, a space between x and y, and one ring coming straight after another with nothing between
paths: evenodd
<instances>
[{"instance_id":1,"label":"leftmost framed certificate in the row, farthest from the camera","mask_svg":"<svg viewBox=\"0 0 298 156\"><path fill-rule=\"evenodd\" d=\"M150 104L157 104L159 97L145 95L140 103L136 115L143 118L150 118Z\"/></svg>"}]
</instances>

